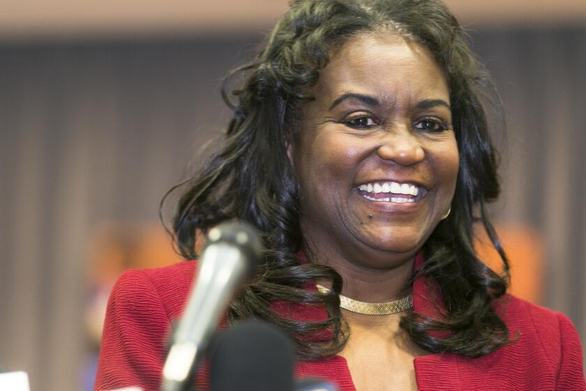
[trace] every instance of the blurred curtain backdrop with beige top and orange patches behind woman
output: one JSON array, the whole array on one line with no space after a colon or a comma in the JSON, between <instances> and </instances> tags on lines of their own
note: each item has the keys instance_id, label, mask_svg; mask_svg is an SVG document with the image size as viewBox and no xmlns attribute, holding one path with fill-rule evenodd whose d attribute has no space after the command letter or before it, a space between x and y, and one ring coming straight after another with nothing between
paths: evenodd
<instances>
[{"instance_id":1,"label":"blurred curtain backdrop with beige top and orange patches behind woman","mask_svg":"<svg viewBox=\"0 0 586 391\"><path fill-rule=\"evenodd\" d=\"M446 3L506 109L492 213L513 293L584 340L586 1ZM0 0L0 365L33 391L90 390L117 276L179 260L159 202L229 117L221 78L286 6Z\"/></svg>"}]
</instances>

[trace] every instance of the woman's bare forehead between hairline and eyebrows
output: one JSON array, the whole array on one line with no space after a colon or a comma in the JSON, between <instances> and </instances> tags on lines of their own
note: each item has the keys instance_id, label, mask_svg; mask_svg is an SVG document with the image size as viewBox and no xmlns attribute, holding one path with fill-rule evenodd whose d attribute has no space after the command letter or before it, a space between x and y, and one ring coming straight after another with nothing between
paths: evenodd
<instances>
[{"instance_id":1,"label":"woman's bare forehead between hairline and eyebrows","mask_svg":"<svg viewBox=\"0 0 586 391\"><path fill-rule=\"evenodd\" d=\"M318 100L350 91L383 100L442 98L449 102L446 76L433 54L394 32L347 40L320 71L313 89Z\"/></svg>"}]
</instances>

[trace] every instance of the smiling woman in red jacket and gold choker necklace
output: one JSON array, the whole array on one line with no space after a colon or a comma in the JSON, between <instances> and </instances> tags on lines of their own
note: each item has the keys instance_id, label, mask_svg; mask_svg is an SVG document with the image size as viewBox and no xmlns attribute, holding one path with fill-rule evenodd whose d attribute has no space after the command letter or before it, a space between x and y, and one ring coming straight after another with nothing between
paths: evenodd
<instances>
[{"instance_id":1,"label":"smiling woman in red jacket and gold choker necklace","mask_svg":"<svg viewBox=\"0 0 586 391\"><path fill-rule=\"evenodd\" d=\"M294 1L239 71L227 138L174 220L188 259L221 221L263 235L230 323L283 327L297 373L340 390L586 389L568 318L505 295L486 213L499 193L490 81L440 1ZM504 276L476 257L475 221ZM158 388L195 267L121 277L96 390Z\"/></svg>"}]
</instances>

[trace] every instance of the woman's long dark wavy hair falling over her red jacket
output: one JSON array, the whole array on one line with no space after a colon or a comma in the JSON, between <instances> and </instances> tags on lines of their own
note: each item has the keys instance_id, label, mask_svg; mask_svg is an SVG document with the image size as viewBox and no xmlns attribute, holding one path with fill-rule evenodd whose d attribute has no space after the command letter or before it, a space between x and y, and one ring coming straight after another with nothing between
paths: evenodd
<instances>
[{"instance_id":1,"label":"woman's long dark wavy hair falling over her red jacket","mask_svg":"<svg viewBox=\"0 0 586 391\"><path fill-rule=\"evenodd\" d=\"M263 237L264 259L257 277L232 303L230 322L255 316L276 323L294 337L302 359L343 348L348 333L338 296L305 289L315 279L329 279L333 292L339 293L343 281L330 267L299 262L303 236L298 188L285 140L294 132L299 108L311 99L308 87L332 51L353 36L384 29L425 45L444 69L460 152L451 214L423 247L425 261L417 272L437 282L445 316L408 313L400 325L427 351L479 357L509 341L506 325L493 309L494 300L506 292L509 263L486 211L486 203L499 194L484 103L493 87L462 27L440 1L293 1L257 59L235 71L247 78L232 92L234 103L227 87L223 89L234 113L223 145L181 195L173 221L176 244L185 258L197 258L198 233L230 219L252 223ZM476 221L502 257L503 276L476 256ZM328 317L320 322L288 318L273 311L276 302L322 305Z\"/></svg>"}]
</instances>

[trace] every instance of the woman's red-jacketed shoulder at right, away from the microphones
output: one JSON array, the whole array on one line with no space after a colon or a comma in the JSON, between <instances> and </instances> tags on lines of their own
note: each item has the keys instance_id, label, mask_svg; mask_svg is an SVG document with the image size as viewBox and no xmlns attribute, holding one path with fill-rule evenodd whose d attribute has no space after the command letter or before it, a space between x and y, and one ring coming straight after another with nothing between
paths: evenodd
<instances>
[{"instance_id":1,"label":"woman's red-jacketed shoulder at right, away from the microphones","mask_svg":"<svg viewBox=\"0 0 586 391\"><path fill-rule=\"evenodd\" d=\"M485 379L491 390L586 391L580 339L566 316L511 295L495 301L495 311L509 343L479 358L453 358L466 389Z\"/></svg>"}]
</instances>

